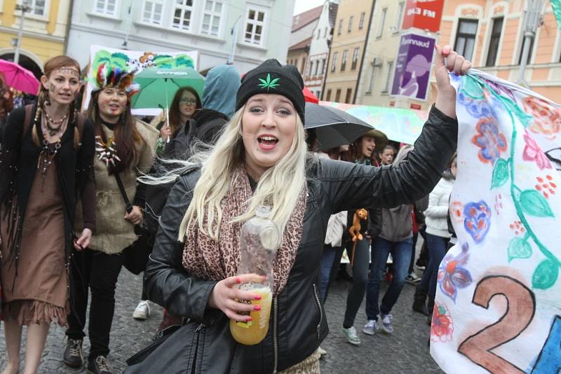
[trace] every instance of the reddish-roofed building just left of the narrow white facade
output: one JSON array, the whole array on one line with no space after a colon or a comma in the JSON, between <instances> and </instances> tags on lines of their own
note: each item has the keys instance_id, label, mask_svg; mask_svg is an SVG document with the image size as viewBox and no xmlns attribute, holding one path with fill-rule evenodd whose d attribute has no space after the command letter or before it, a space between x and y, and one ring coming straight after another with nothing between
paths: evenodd
<instances>
[{"instance_id":1,"label":"reddish-roofed building just left of the narrow white facade","mask_svg":"<svg viewBox=\"0 0 561 374\"><path fill-rule=\"evenodd\" d=\"M313 30L318 25L323 6L312 8L292 17L290 47L286 57L287 64L295 65L302 76L306 74Z\"/></svg>"}]
</instances>

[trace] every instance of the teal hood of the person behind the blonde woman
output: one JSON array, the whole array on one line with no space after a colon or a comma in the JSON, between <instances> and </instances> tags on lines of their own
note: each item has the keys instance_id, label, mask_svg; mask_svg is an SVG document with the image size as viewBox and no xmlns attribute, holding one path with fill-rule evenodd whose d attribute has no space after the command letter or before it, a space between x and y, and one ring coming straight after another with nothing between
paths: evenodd
<instances>
[{"instance_id":1,"label":"teal hood of the person behind the blonde woman","mask_svg":"<svg viewBox=\"0 0 561 374\"><path fill-rule=\"evenodd\" d=\"M240 74L233 65L213 67L205 79L203 108L219 111L232 118L236 111L236 92L240 84Z\"/></svg>"}]
</instances>

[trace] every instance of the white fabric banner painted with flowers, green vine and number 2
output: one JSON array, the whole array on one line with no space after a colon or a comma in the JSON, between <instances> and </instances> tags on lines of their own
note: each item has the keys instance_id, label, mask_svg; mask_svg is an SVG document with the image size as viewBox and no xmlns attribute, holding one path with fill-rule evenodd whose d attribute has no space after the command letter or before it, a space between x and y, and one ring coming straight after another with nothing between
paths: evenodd
<instances>
[{"instance_id":1,"label":"white fabric banner painted with flowers, green vine and number 2","mask_svg":"<svg viewBox=\"0 0 561 374\"><path fill-rule=\"evenodd\" d=\"M440 263L431 354L447 373L558 373L561 106L480 71L451 76L459 244Z\"/></svg>"}]
</instances>

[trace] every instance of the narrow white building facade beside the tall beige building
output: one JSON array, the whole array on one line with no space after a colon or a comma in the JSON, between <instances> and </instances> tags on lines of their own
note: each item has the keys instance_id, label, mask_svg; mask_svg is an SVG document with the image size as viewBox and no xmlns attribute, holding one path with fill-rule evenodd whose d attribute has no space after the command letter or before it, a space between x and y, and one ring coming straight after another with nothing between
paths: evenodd
<instances>
[{"instance_id":1,"label":"narrow white building facade beside the tall beige building","mask_svg":"<svg viewBox=\"0 0 561 374\"><path fill-rule=\"evenodd\" d=\"M318 98L321 97L327 72L327 59L333 37L333 27L337 19L337 6L338 4L332 1L325 1L318 24L312 32L304 85Z\"/></svg>"}]
</instances>

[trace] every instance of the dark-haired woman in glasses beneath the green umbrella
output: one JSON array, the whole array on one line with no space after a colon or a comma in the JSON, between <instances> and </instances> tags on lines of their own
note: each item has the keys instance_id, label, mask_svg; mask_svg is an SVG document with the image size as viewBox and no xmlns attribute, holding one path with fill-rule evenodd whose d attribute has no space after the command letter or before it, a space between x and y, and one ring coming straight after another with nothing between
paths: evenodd
<instances>
[{"instance_id":1,"label":"dark-haired woman in glasses beneath the green umbrella","mask_svg":"<svg viewBox=\"0 0 561 374\"><path fill-rule=\"evenodd\" d=\"M155 123L157 123L156 128L160 130L160 137L163 143L165 144L175 134L177 129L186 124L193 117L195 111L202 107L201 98L198 97L198 93L194 88L182 87L177 90L169 109L170 123L167 123L165 111L161 116L156 117L155 120Z\"/></svg>"}]
</instances>

